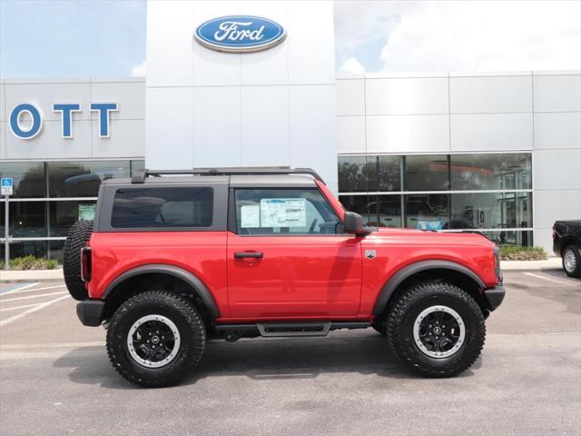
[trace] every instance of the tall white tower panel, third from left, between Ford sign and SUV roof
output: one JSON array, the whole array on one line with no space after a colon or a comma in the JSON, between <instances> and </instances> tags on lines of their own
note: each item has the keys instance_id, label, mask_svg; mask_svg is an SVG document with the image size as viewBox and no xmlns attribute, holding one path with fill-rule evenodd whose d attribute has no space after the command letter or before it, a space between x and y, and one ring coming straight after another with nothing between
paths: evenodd
<instances>
[{"instance_id":1,"label":"tall white tower panel, third from left, between Ford sign and SUV roof","mask_svg":"<svg viewBox=\"0 0 581 436\"><path fill-rule=\"evenodd\" d=\"M287 86L242 86L241 123L243 165L289 164Z\"/></svg>"}]
</instances>

